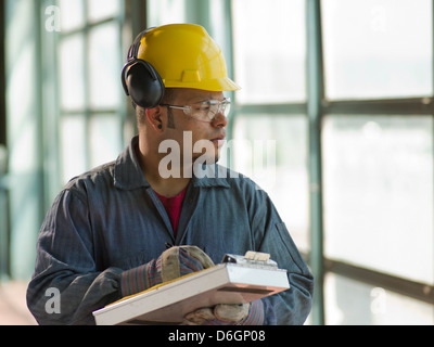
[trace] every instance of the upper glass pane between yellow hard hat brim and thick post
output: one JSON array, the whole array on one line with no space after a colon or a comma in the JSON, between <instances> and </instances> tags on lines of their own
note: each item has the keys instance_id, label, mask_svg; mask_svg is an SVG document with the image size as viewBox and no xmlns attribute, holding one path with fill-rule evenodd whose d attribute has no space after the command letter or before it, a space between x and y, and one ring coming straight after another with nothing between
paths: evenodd
<instances>
[{"instance_id":1,"label":"upper glass pane between yellow hard hat brim and thick post","mask_svg":"<svg viewBox=\"0 0 434 347\"><path fill-rule=\"evenodd\" d=\"M304 0L234 0L233 50L241 103L306 100Z\"/></svg>"}]
</instances>

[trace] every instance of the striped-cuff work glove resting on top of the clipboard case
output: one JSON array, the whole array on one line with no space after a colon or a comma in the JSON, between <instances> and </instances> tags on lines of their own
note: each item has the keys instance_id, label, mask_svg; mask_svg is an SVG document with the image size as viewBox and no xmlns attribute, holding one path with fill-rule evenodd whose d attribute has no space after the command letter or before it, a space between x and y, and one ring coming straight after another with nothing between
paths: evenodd
<instances>
[{"instance_id":1,"label":"striped-cuff work glove resting on top of the clipboard case","mask_svg":"<svg viewBox=\"0 0 434 347\"><path fill-rule=\"evenodd\" d=\"M123 296L143 292L154 285L214 266L213 260L196 246L175 246L157 259L120 274Z\"/></svg>"}]
</instances>

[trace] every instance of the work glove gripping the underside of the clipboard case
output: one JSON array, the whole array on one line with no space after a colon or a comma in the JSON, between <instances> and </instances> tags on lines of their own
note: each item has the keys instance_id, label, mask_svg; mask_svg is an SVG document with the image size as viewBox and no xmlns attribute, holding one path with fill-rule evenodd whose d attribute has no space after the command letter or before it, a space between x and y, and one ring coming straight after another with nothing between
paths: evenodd
<instances>
[{"instance_id":1,"label":"work glove gripping the underside of the clipboard case","mask_svg":"<svg viewBox=\"0 0 434 347\"><path fill-rule=\"evenodd\" d=\"M251 304L219 304L200 308L186 314L187 325L261 325L264 324L263 301Z\"/></svg>"}]
</instances>

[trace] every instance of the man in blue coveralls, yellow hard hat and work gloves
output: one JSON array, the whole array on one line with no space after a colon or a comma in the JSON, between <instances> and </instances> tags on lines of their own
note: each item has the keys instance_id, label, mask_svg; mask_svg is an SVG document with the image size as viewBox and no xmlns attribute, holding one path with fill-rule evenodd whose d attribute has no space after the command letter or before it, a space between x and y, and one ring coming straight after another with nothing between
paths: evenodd
<instances>
[{"instance_id":1,"label":"man in blue coveralls, yellow hard hat and work gloves","mask_svg":"<svg viewBox=\"0 0 434 347\"><path fill-rule=\"evenodd\" d=\"M92 311L221 261L268 253L291 288L250 305L217 305L187 324L302 324L312 277L268 195L215 164L230 101L218 46L204 28L139 35L123 70L139 134L116 162L73 179L42 224L30 311L41 324L92 324ZM167 160L167 158L171 158ZM54 290L54 292L53 292ZM47 309L59 293L59 309Z\"/></svg>"}]
</instances>

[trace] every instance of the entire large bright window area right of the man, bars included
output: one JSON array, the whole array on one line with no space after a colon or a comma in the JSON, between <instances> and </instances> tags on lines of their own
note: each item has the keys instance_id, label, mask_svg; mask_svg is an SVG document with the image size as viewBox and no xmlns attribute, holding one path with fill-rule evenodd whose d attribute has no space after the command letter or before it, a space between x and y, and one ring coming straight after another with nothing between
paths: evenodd
<instances>
[{"instance_id":1,"label":"entire large bright window area right of the man, bars included","mask_svg":"<svg viewBox=\"0 0 434 347\"><path fill-rule=\"evenodd\" d=\"M432 14L430 0L232 0L233 167L308 256L315 324L433 323ZM275 141L275 165L255 141Z\"/></svg>"}]
</instances>

